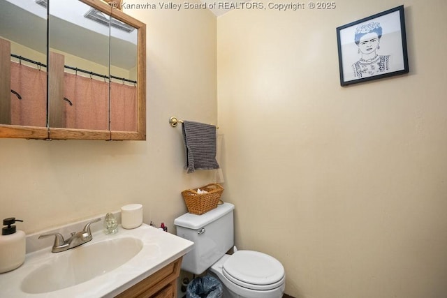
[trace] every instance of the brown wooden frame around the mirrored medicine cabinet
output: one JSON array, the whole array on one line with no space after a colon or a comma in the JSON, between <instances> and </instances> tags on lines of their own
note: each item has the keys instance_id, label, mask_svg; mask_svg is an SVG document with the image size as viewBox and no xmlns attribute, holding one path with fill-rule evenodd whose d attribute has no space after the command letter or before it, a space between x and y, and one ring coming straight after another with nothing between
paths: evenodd
<instances>
[{"instance_id":1,"label":"brown wooden frame around the mirrored medicine cabinet","mask_svg":"<svg viewBox=\"0 0 447 298\"><path fill-rule=\"evenodd\" d=\"M137 131L95 131L0 124L0 138L41 140L146 140L146 24L101 0L80 0L103 13L138 29ZM50 101L51 98L48 98ZM48 105L49 106L49 105Z\"/></svg>"}]
</instances>

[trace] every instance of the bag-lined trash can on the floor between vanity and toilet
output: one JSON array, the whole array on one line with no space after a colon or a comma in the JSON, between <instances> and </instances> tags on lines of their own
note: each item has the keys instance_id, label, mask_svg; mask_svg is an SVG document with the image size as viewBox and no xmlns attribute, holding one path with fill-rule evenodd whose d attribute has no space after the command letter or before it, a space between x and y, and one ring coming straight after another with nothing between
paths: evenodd
<instances>
[{"instance_id":1,"label":"bag-lined trash can on the floor between vanity and toilet","mask_svg":"<svg viewBox=\"0 0 447 298\"><path fill-rule=\"evenodd\" d=\"M212 276L194 278L186 288L186 298L221 298L221 282Z\"/></svg>"}]
</instances>

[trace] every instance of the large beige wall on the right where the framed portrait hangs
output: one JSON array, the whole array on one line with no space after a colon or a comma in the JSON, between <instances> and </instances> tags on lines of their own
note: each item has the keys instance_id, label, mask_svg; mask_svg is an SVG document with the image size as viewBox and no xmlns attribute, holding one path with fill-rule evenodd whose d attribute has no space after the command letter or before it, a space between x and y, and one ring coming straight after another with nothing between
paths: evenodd
<instances>
[{"instance_id":1,"label":"large beige wall on the right where the framed portrait hangs","mask_svg":"<svg viewBox=\"0 0 447 298\"><path fill-rule=\"evenodd\" d=\"M446 297L447 2L336 4L217 20L236 244L294 297ZM340 87L336 27L401 4L410 73Z\"/></svg>"}]
</instances>

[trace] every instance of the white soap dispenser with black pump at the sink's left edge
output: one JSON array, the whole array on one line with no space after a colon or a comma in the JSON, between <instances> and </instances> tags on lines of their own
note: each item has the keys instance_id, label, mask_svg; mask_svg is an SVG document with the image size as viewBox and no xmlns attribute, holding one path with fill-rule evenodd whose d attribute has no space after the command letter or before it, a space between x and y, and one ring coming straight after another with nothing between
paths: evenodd
<instances>
[{"instance_id":1,"label":"white soap dispenser with black pump at the sink's left edge","mask_svg":"<svg viewBox=\"0 0 447 298\"><path fill-rule=\"evenodd\" d=\"M3 225L0 236L0 273L14 270L23 264L25 253L27 251L27 242L25 233L17 230L15 217L3 219Z\"/></svg>"}]
</instances>

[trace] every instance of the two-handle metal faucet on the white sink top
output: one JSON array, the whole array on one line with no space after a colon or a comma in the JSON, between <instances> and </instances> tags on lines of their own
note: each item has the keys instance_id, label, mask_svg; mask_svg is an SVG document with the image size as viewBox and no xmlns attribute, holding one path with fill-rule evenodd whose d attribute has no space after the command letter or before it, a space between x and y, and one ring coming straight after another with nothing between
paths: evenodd
<instances>
[{"instance_id":1,"label":"two-handle metal faucet on the white sink top","mask_svg":"<svg viewBox=\"0 0 447 298\"><path fill-rule=\"evenodd\" d=\"M91 223L97 223L98 221L101 221L101 218L96 218L93 221L89 221L85 225L84 229L82 229L82 231L71 233L71 237L67 240L65 240L64 236L62 236L60 233L41 234L41 236L39 236L39 239L54 236L54 244L51 251L53 253L67 251L68 249L75 248L76 246L85 244L93 239L93 237L91 236L90 225Z\"/></svg>"}]
</instances>

